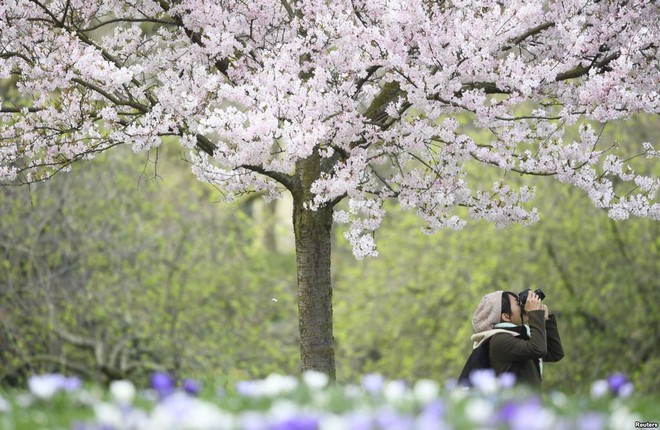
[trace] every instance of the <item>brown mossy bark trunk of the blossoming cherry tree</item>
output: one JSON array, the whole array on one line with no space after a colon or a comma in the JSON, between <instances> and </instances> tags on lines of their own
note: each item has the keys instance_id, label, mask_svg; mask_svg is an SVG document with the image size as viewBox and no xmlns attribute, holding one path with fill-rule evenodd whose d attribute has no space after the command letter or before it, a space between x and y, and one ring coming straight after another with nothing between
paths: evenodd
<instances>
[{"instance_id":1,"label":"brown mossy bark trunk of the blossoming cherry tree","mask_svg":"<svg viewBox=\"0 0 660 430\"><path fill-rule=\"evenodd\" d=\"M332 207L304 208L312 195L309 186L318 178L318 155L298 164L300 192L294 194L293 227L298 271L298 323L302 371L316 370L335 379L332 335L332 281L330 253Z\"/></svg>"}]
</instances>

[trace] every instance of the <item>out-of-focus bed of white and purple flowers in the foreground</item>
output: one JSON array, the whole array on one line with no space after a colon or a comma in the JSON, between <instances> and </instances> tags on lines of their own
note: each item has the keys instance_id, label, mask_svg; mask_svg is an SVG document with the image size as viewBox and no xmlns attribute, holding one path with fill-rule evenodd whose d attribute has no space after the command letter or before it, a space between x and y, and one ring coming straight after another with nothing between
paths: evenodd
<instances>
[{"instance_id":1,"label":"out-of-focus bed of white and purple flowers in the foreground","mask_svg":"<svg viewBox=\"0 0 660 430\"><path fill-rule=\"evenodd\" d=\"M508 375L472 375L473 388L449 382L406 383L366 375L359 385L333 384L324 374L271 375L230 390L207 389L163 373L138 391L129 381L108 390L76 378L35 375L28 390L0 394L1 429L585 429L636 428L653 419L654 401L633 396L625 376L592 384L591 394L536 393ZM656 417L657 419L657 417Z\"/></svg>"}]
</instances>

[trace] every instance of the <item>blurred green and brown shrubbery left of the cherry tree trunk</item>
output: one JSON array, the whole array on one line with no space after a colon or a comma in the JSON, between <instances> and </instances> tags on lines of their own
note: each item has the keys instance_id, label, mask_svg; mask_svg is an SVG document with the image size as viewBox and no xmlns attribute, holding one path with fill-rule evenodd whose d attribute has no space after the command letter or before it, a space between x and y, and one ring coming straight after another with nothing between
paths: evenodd
<instances>
[{"instance_id":1,"label":"blurred green and brown shrubbery left of the cherry tree trunk","mask_svg":"<svg viewBox=\"0 0 660 430\"><path fill-rule=\"evenodd\" d=\"M295 372L291 255L243 204L218 211L177 154L162 180L126 150L0 193L0 380Z\"/></svg>"}]
</instances>

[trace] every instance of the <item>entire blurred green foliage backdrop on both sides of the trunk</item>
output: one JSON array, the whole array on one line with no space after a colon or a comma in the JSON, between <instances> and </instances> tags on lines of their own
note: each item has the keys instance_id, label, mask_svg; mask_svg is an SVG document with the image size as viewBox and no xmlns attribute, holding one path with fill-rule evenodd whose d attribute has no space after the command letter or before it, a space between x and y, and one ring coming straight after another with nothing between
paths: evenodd
<instances>
[{"instance_id":1,"label":"entire blurred green foliage backdrop on both sides of the trunk","mask_svg":"<svg viewBox=\"0 0 660 430\"><path fill-rule=\"evenodd\" d=\"M655 128L636 118L603 138L637 144ZM157 155L114 151L48 183L0 190L6 383L45 371L99 381L144 380L156 368L226 381L297 372L295 258L281 246L290 215L259 198L219 203L172 148ZM338 379L456 377L481 296L529 286L546 292L566 352L545 367L548 389L588 390L620 371L658 393L658 223L614 223L553 179L520 184L537 187L541 221L531 227L471 222L426 236L392 202L380 256L361 261L335 229Z\"/></svg>"}]
</instances>

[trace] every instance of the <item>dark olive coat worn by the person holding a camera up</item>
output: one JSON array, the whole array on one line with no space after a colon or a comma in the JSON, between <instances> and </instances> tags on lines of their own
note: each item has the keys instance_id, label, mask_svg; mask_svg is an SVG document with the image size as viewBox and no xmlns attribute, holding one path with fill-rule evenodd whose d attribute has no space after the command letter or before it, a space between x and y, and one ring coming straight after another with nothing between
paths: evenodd
<instances>
[{"instance_id":1,"label":"dark olive coat worn by the person holding a camera up","mask_svg":"<svg viewBox=\"0 0 660 430\"><path fill-rule=\"evenodd\" d=\"M543 362L555 362L564 357L557 320L554 315L545 319L542 310L529 312L531 337L526 331L519 331L519 336L497 333L490 340L489 358L491 367L497 375L514 373L518 383L541 387L539 359Z\"/></svg>"}]
</instances>

